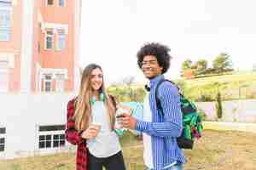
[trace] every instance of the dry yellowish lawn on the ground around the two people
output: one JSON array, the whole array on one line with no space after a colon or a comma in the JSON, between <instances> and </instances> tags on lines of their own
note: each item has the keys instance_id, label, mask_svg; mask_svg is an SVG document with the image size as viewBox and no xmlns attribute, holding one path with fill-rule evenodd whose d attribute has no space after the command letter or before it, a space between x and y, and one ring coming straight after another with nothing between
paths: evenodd
<instances>
[{"instance_id":1,"label":"dry yellowish lawn on the ground around the two people","mask_svg":"<svg viewBox=\"0 0 256 170\"><path fill-rule=\"evenodd\" d=\"M194 150L184 150L185 170L255 170L256 133L205 130ZM143 143L131 134L121 139L128 170L143 167ZM73 170L74 154L64 153L0 161L1 170Z\"/></svg>"}]
</instances>

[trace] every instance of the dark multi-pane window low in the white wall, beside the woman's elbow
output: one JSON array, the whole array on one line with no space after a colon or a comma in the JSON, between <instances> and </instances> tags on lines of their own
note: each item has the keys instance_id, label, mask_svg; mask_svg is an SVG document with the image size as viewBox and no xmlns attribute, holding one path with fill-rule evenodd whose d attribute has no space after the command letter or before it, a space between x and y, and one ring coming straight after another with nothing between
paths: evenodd
<instances>
[{"instance_id":1,"label":"dark multi-pane window low in the white wall, beside the woman's elbow","mask_svg":"<svg viewBox=\"0 0 256 170\"><path fill-rule=\"evenodd\" d=\"M39 126L39 149L60 148L65 145L65 125Z\"/></svg>"}]
</instances>

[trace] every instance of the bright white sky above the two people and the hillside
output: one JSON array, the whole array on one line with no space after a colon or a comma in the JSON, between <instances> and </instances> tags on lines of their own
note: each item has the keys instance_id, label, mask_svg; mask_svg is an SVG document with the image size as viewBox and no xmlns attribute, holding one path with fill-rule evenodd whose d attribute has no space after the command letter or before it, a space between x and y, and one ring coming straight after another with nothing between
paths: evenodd
<instances>
[{"instance_id":1,"label":"bright white sky above the two people and the hillside","mask_svg":"<svg viewBox=\"0 0 256 170\"><path fill-rule=\"evenodd\" d=\"M80 65L102 65L107 82L135 76L137 50L162 42L173 56L166 77L175 79L185 59L230 54L235 69L256 63L254 0L86 0L82 2Z\"/></svg>"}]
</instances>

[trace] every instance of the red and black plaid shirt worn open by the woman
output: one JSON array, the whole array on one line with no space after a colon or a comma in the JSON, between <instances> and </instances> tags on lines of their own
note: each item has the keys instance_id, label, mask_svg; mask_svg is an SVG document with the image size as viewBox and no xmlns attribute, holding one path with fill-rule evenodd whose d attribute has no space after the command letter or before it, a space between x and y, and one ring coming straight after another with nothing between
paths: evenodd
<instances>
[{"instance_id":1,"label":"red and black plaid shirt worn open by the woman","mask_svg":"<svg viewBox=\"0 0 256 170\"><path fill-rule=\"evenodd\" d=\"M67 127L65 130L65 138L71 144L77 144L76 167L77 170L87 170L87 148L86 141L82 139L78 131L74 128L72 120L74 114L74 99L67 104Z\"/></svg>"}]
</instances>

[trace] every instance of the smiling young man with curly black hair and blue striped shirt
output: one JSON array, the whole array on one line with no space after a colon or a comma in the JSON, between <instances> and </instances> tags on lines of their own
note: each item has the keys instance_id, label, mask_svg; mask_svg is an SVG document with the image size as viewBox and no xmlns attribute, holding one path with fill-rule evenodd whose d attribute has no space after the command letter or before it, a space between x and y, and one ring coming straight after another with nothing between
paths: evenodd
<instances>
[{"instance_id":1,"label":"smiling young man with curly black hair and blue striped shirt","mask_svg":"<svg viewBox=\"0 0 256 170\"><path fill-rule=\"evenodd\" d=\"M160 43L148 43L137 53L137 65L148 78L148 94L144 99L143 121L125 114L119 119L124 127L143 132L143 158L148 169L181 170L185 158L177 146L177 137L183 130L180 96L171 82L162 82L158 98L163 113L158 111L155 88L169 69L170 48Z\"/></svg>"}]
</instances>

